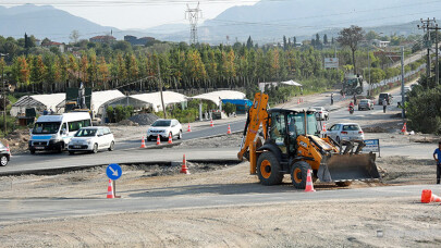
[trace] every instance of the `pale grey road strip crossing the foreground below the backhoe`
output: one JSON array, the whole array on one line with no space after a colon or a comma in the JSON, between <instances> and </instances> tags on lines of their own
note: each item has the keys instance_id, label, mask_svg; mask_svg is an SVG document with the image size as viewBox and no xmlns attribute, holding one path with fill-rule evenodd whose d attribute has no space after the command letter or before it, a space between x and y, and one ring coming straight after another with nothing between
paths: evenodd
<instances>
[{"instance_id":1,"label":"pale grey road strip crossing the foreground below the backhoe","mask_svg":"<svg viewBox=\"0 0 441 248\"><path fill-rule=\"evenodd\" d=\"M203 186L201 186L203 187ZM218 185L218 187L223 187ZM262 187L261 191L270 187ZM0 222L29 221L47 218L68 218L93 214L108 214L134 211L155 211L173 209L216 208L229 206L261 206L279 202L299 204L304 201L345 200L345 199L379 199L413 197L417 202L421 190L429 188L441 190L439 185L409 185L394 187L370 187L351 190L323 190L314 194L305 194L303 190L293 188L290 191L267 191L262 194L236 194L185 197L179 196L157 197L149 196L148 191L136 191L132 198L121 199L0 199ZM170 189L173 190L173 189Z\"/></svg>"}]
</instances>

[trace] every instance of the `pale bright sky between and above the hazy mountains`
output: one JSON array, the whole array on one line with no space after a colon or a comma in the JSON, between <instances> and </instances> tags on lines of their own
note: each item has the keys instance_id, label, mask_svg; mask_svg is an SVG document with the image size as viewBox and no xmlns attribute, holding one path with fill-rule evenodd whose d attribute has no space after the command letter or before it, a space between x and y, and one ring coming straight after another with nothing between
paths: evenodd
<instances>
[{"instance_id":1,"label":"pale bright sky between and above the hazy mountains","mask_svg":"<svg viewBox=\"0 0 441 248\"><path fill-rule=\"evenodd\" d=\"M32 3L53 5L71 14L103 26L120 29L144 29L162 24L188 23L185 20L187 3L197 7L197 0L0 0L0 5L12 7ZM258 0L199 0L200 22L213 18L234 5L250 5Z\"/></svg>"}]
</instances>

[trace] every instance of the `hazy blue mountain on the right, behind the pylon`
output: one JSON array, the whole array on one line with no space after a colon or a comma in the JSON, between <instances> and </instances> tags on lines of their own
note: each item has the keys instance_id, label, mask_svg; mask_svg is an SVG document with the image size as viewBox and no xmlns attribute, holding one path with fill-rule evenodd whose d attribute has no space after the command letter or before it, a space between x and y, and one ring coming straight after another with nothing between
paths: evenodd
<instances>
[{"instance_id":1,"label":"hazy blue mountain on the right, behind the pylon","mask_svg":"<svg viewBox=\"0 0 441 248\"><path fill-rule=\"evenodd\" d=\"M199 40L230 42L248 36L258 42L280 41L283 35L309 38L318 32L351 25L376 27L438 15L440 1L430 0L262 0L254 5L233 7L206 21ZM400 30L396 30L399 34ZM389 34L389 33L388 33ZM275 40L274 40L275 38Z\"/></svg>"}]
</instances>

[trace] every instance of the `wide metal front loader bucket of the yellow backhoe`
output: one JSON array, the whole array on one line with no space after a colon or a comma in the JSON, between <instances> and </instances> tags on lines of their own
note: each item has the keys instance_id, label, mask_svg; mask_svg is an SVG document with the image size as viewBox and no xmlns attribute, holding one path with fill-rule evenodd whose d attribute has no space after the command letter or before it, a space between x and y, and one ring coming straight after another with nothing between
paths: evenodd
<instances>
[{"instance_id":1,"label":"wide metal front loader bucket of the yellow backhoe","mask_svg":"<svg viewBox=\"0 0 441 248\"><path fill-rule=\"evenodd\" d=\"M323 159L317 176L320 182L371 181L380 178L375 153L332 154Z\"/></svg>"}]
</instances>

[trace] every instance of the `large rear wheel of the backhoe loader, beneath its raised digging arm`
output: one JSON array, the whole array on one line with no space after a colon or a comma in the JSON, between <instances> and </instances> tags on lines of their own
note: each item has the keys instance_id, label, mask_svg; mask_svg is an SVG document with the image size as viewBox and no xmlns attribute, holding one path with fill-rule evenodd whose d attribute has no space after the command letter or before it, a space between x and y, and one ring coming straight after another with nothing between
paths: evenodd
<instances>
[{"instance_id":1,"label":"large rear wheel of the backhoe loader, beneath its raised digging arm","mask_svg":"<svg viewBox=\"0 0 441 248\"><path fill-rule=\"evenodd\" d=\"M271 186L281 184L283 173L280 172L279 160L271 151L266 151L259 156L257 161L257 175L260 184Z\"/></svg>"}]
</instances>

